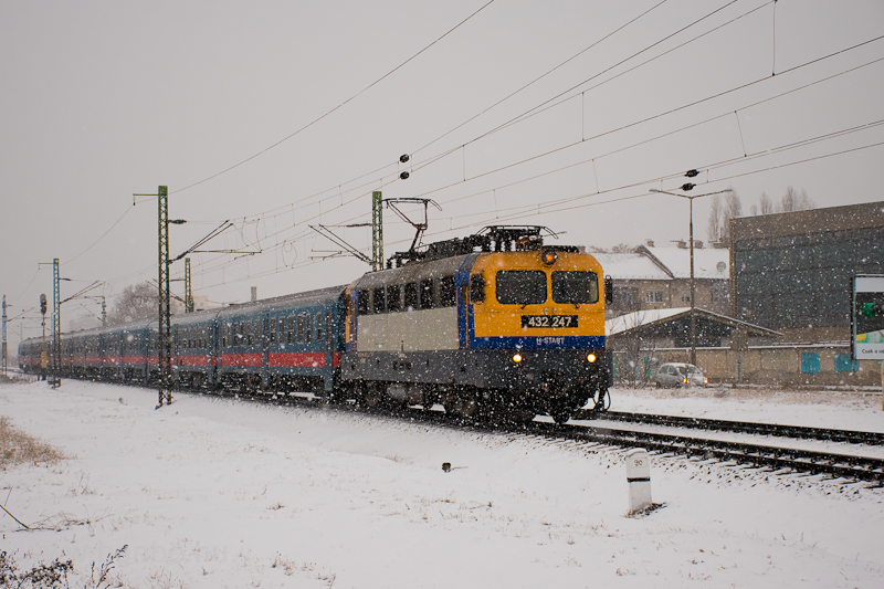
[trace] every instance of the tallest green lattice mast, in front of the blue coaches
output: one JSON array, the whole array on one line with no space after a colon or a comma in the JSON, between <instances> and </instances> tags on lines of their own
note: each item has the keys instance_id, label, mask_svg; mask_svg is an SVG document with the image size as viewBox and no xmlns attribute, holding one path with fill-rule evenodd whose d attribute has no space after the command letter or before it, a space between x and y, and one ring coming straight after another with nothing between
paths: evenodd
<instances>
[{"instance_id":1,"label":"tallest green lattice mast, in front of the blue coaches","mask_svg":"<svg viewBox=\"0 0 884 589\"><path fill-rule=\"evenodd\" d=\"M171 404L171 371L172 371L172 343L171 343L171 309L169 307L169 188L160 186L157 191L157 233L159 242L157 265L159 266L159 304L158 304L158 341L157 355L159 367L158 396L159 404Z\"/></svg>"}]
</instances>

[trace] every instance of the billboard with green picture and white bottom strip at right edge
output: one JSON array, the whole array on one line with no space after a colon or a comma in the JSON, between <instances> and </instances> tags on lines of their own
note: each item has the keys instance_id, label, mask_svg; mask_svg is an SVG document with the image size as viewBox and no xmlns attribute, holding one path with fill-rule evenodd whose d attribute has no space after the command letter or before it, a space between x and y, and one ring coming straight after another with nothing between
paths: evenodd
<instances>
[{"instance_id":1,"label":"billboard with green picture and white bottom strip at right edge","mask_svg":"<svg viewBox=\"0 0 884 589\"><path fill-rule=\"evenodd\" d=\"M884 360L884 276L853 276L853 358Z\"/></svg>"}]
</instances>

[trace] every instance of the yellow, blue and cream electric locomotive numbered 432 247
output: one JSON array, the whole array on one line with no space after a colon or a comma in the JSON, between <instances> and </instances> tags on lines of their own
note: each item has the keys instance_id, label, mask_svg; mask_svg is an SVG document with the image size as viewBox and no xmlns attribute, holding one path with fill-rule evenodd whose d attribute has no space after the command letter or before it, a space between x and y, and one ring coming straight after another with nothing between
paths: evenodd
<instances>
[{"instance_id":1,"label":"yellow, blue and cream electric locomotive numbered 432 247","mask_svg":"<svg viewBox=\"0 0 884 589\"><path fill-rule=\"evenodd\" d=\"M544 231L488 227L352 283L341 381L368 404L439 402L491 420L564 423L588 401L602 408L611 285L580 249L544 245Z\"/></svg>"}]
</instances>

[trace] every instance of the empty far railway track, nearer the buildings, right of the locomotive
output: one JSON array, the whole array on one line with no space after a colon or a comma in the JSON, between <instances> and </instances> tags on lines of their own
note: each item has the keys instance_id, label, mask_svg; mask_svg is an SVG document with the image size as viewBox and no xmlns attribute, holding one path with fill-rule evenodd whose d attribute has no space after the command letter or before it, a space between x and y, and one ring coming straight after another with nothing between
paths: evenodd
<instances>
[{"instance_id":1,"label":"empty far railway track, nearer the buildings, right of the locomotive","mask_svg":"<svg viewBox=\"0 0 884 589\"><path fill-rule=\"evenodd\" d=\"M800 425L781 425L778 423L757 423L750 421L728 421L718 419L685 418L675 416L652 416L648 413L627 413L607 411L591 413L581 411L575 420L620 421L646 425L665 425L691 430L751 433L756 435L774 435L796 440L820 440L827 442L844 442L850 444L884 445L884 433L852 430L830 430L825 428L804 428Z\"/></svg>"}]
</instances>

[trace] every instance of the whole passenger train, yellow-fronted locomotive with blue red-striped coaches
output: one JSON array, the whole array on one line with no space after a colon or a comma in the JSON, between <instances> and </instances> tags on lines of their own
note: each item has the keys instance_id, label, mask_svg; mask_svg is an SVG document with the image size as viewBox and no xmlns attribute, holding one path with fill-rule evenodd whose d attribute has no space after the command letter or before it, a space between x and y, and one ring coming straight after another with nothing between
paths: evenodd
<instances>
[{"instance_id":1,"label":"whole passenger train, yellow-fronted locomotive with blue red-striped coaches","mask_svg":"<svg viewBox=\"0 0 884 589\"><path fill-rule=\"evenodd\" d=\"M441 404L490 421L604 410L611 281L581 248L545 244L545 232L492 225L399 252L349 284L176 315L171 378L206 391ZM60 376L157 382L157 319L66 333ZM22 370L39 371L43 349L22 341Z\"/></svg>"}]
</instances>

